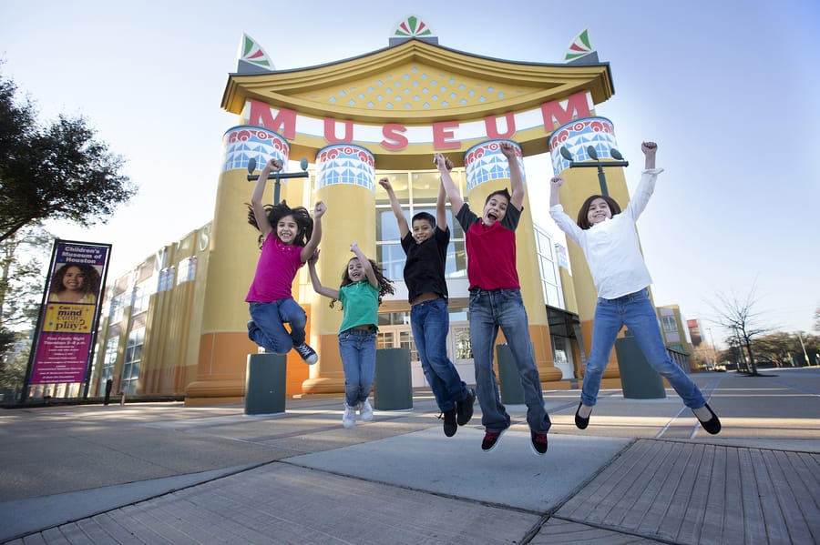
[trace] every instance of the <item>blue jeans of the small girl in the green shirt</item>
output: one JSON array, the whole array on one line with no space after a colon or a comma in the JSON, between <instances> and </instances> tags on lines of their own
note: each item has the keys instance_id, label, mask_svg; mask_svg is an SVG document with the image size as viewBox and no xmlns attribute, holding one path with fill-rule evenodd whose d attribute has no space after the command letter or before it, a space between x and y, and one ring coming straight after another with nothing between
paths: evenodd
<instances>
[{"instance_id":1,"label":"blue jeans of the small girl in the green shirt","mask_svg":"<svg viewBox=\"0 0 820 545\"><path fill-rule=\"evenodd\" d=\"M339 333L344 369L344 401L355 407L370 395L375 376L375 330L347 329Z\"/></svg>"}]
</instances>

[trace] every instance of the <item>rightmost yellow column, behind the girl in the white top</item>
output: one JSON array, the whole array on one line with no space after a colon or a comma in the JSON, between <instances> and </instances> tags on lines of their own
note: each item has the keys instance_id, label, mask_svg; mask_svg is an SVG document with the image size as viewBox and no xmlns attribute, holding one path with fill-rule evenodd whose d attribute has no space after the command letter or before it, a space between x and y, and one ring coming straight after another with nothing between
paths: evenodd
<instances>
[{"instance_id":1,"label":"rightmost yellow column, behind the girl in the white top","mask_svg":"<svg viewBox=\"0 0 820 545\"><path fill-rule=\"evenodd\" d=\"M573 219L584 201L592 195L600 195L601 187L597 168L569 168L569 161L560 155L561 147L566 146L573 160L581 162L588 160L588 146L594 146L601 159L610 158L610 149L617 149L615 132L612 122L605 117L585 117L577 119L564 126L559 126L549 138L549 149L555 172L567 180L561 187L560 200L564 212ZM613 159L614 160L614 159ZM630 202L630 194L626 185L623 168L605 167L605 176L609 195L618 202L621 209ZM567 252L569 263L572 265L572 284L578 305L581 335L583 336L584 353L589 357L592 348L592 326L595 318L595 307L598 304L598 291L592 282L587 259L583 251L575 243L568 241ZM563 277L563 275L562 275ZM563 279L563 278L562 278ZM586 361L579 366L582 371L586 368ZM620 373L615 350L610 355L610 363L603 374L602 385L620 388ZM609 380L609 383L607 380Z\"/></svg>"}]
</instances>

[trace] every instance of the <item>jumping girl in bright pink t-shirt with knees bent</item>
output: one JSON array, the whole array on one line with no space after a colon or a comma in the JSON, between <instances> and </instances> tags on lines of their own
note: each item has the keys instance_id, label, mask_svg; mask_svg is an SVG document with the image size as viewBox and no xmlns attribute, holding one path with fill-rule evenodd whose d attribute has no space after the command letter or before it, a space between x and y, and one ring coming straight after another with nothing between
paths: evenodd
<instances>
[{"instance_id":1,"label":"jumping girl in bright pink t-shirt with knees bent","mask_svg":"<svg viewBox=\"0 0 820 545\"><path fill-rule=\"evenodd\" d=\"M322 201L313 207L313 219L304 207L291 208L282 201L262 205L268 175L282 169L278 159L262 168L251 193L248 223L260 231L261 256L256 265L248 297L251 321L248 337L277 354L293 348L307 364L316 363L315 350L305 342L307 314L293 300L291 287L299 267L313 256L322 239L322 216L327 210ZM284 324L290 327L290 332Z\"/></svg>"}]
</instances>

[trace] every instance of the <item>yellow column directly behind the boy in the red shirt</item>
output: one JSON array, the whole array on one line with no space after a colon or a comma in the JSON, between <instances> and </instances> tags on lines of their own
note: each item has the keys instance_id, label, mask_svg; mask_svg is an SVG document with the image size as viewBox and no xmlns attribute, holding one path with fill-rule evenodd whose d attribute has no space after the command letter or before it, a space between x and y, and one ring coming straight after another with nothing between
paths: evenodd
<instances>
[{"instance_id":1,"label":"yellow column directly behind the boy in the red shirt","mask_svg":"<svg viewBox=\"0 0 820 545\"><path fill-rule=\"evenodd\" d=\"M464 166L466 170L466 190L470 208L481 216L481 210L487 196L493 191L509 188L509 169L507 157L501 153L500 140L490 140L473 146L466 151ZM516 146L518 161L521 160L521 148ZM521 167L523 171L523 166ZM521 298L527 309L529 337L535 350L536 364L541 382L560 380L561 371L554 365L552 342L549 338L547 304L544 290L541 287L541 275L538 268L538 251L535 240L535 229L532 225L532 213L529 197L524 197L524 210L516 229L516 268L518 281L521 284Z\"/></svg>"}]
</instances>

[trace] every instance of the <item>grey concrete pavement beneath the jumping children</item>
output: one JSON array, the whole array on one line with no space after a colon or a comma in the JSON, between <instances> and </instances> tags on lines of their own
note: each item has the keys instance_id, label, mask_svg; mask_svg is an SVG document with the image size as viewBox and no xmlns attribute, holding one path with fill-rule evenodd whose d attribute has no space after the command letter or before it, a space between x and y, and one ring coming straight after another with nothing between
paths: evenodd
<instances>
[{"instance_id":1,"label":"grey concrete pavement beneath the jumping children","mask_svg":"<svg viewBox=\"0 0 820 545\"><path fill-rule=\"evenodd\" d=\"M179 403L0 411L0 541L11 543L820 542L820 368L692 378L710 436L672 390L545 392L529 449L523 405L499 447L480 413L446 438L414 409L341 425L342 398L281 415Z\"/></svg>"}]
</instances>

